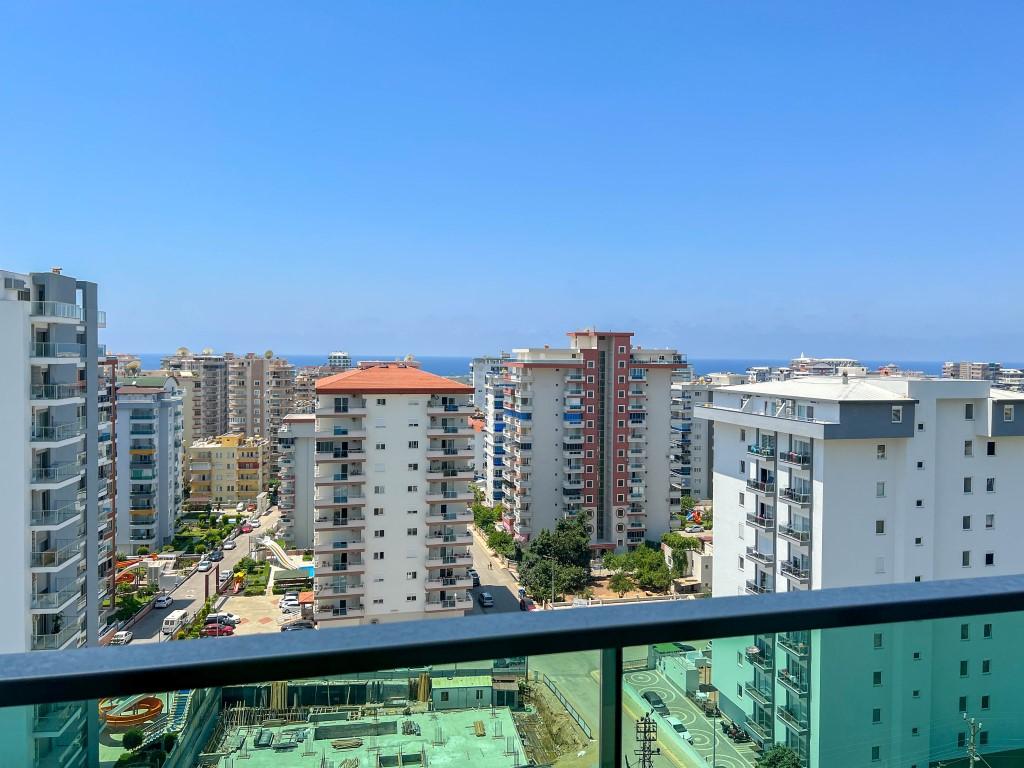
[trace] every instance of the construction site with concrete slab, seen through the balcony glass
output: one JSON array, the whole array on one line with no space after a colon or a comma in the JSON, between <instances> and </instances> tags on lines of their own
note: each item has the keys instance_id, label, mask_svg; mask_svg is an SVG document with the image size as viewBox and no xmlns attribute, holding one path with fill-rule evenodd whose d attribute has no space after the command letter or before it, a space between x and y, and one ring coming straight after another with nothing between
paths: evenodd
<instances>
[{"instance_id":1,"label":"construction site with concrete slab, seen through the balcony glass","mask_svg":"<svg viewBox=\"0 0 1024 768\"><path fill-rule=\"evenodd\" d=\"M194 764L517 768L564 758L575 766L589 744L543 685L526 684L525 667L394 670L223 688Z\"/></svg>"}]
</instances>

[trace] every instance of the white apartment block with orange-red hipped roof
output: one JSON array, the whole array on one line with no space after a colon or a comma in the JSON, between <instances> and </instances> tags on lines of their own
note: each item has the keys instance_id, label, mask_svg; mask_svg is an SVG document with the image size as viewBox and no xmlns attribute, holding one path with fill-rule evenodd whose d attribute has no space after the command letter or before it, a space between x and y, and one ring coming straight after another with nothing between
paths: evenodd
<instances>
[{"instance_id":1,"label":"white apartment block with orange-red hipped roof","mask_svg":"<svg viewBox=\"0 0 1024 768\"><path fill-rule=\"evenodd\" d=\"M412 360L316 382L314 470L296 483L314 488L322 627L472 606L472 392Z\"/></svg>"}]
</instances>

